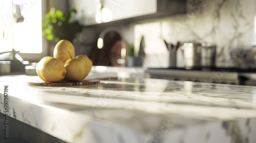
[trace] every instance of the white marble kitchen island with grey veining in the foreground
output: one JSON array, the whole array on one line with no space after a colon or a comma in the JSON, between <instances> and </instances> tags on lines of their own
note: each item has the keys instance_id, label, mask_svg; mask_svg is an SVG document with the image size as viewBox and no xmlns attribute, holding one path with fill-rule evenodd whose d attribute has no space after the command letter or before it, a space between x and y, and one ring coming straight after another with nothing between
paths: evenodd
<instances>
[{"instance_id":1,"label":"white marble kitchen island with grey veining in the foreground","mask_svg":"<svg viewBox=\"0 0 256 143\"><path fill-rule=\"evenodd\" d=\"M137 77L102 78L89 86L27 85L37 78L0 76L0 111L8 85L10 117L58 142L256 142L253 86Z\"/></svg>"}]
</instances>

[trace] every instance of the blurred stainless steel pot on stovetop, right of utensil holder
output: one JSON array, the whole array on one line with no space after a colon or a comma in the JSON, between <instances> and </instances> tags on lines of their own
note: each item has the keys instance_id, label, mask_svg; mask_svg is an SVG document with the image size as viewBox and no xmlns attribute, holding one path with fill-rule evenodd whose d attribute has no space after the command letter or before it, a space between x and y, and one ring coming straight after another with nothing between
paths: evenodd
<instances>
[{"instance_id":1,"label":"blurred stainless steel pot on stovetop, right of utensil holder","mask_svg":"<svg viewBox=\"0 0 256 143\"><path fill-rule=\"evenodd\" d=\"M186 42L181 47L186 68L214 67L216 46L209 43Z\"/></svg>"}]
</instances>

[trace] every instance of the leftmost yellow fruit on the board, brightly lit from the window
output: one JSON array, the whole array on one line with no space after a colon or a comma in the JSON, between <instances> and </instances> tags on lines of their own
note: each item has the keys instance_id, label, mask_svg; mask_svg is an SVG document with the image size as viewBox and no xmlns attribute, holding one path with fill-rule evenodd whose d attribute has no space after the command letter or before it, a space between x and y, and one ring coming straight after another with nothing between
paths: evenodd
<instances>
[{"instance_id":1,"label":"leftmost yellow fruit on the board, brightly lit from the window","mask_svg":"<svg viewBox=\"0 0 256 143\"><path fill-rule=\"evenodd\" d=\"M44 81L61 81L67 73L64 64L53 57L44 57L36 64L36 74Z\"/></svg>"}]
</instances>

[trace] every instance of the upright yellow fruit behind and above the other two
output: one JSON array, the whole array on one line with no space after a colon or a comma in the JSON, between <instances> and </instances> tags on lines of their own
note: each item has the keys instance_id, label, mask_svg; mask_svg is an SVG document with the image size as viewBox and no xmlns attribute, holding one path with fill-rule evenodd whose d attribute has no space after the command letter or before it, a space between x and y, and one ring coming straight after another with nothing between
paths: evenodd
<instances>
[{"instance_id":1,"label":"upright yellow fruit behind and above the other two","mask_svg":"<svg viewBox=\"0 0 256 143\"><path fill-rule=\"evenodd\" d=\"M71 57L74 58L75 50L73 44L69 40L60 40L54 47L53 57L65 63L70 58L68 51Z\"/></svg>"}]
</instances>

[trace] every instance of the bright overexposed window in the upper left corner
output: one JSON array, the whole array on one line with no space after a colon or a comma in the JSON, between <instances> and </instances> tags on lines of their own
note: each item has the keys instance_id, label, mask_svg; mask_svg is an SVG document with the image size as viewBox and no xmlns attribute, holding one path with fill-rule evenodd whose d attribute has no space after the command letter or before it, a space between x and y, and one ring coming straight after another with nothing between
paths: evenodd
<instances>
[{"instance_id":1,"label":"bright overexposed window in the upper left corner","mask_svg":"<svg viewBox=\"0 0 256 143\"><path fill-rule=\"evenodd\" d=\"M41 25L41 0L0 0L0 53L42 53Z\"/></svg>"}]
</instances>

